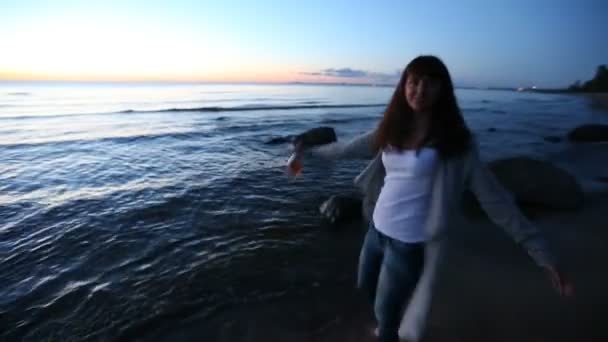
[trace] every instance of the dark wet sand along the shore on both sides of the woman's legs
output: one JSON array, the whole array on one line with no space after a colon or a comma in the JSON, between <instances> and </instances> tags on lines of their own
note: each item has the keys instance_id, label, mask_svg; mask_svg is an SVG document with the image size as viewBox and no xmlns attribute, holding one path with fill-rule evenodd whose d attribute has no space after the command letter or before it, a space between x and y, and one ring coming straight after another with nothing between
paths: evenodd
<instances>
[{"instance_id":1,"label":"dark wet sand along the shore on both sides of the woman's legs","mask_svg":"<svg viewBox=\"0 0 608 342\"><path fill-rule=\"evenodd\" d=\"M486 218L462 218L449 233L424 341L608 341L608 193L576 212L541 212L542 229L575 284L557 296L545 274ZM354 228L353 228L354 229ZM161 339L205 341L374 341L371 308L354 288L362 229L336 235L345 271L306 296L219 312ZM313 281L313 280L311 280ZM204 328L203 328L204 326ZM197 338L193 338L197 336Z\"/></svg>"}]
</instances>

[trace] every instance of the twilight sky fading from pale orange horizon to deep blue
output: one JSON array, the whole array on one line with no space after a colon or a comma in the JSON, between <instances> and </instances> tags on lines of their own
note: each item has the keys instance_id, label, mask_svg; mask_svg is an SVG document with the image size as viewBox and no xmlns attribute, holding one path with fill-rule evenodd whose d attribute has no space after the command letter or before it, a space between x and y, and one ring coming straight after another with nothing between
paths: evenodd
<instances>
[{"instance_id":1,"label":"twilight sky fading from pale orange horizon to deep blue","mask_svg":"<svg viewBox=\"0 0 608 342\"><path fill-rule=\"evenodd\" d=\"M604 0L0 0L0 80L565 87L608 64Z\"/></svg>"}]
</instances>

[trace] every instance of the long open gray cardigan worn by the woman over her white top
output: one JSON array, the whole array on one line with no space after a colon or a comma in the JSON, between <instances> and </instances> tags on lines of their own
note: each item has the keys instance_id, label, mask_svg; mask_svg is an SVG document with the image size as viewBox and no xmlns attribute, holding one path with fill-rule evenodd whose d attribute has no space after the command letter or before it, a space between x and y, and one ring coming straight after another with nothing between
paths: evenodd
<instances>
[{"instance_id":1,"label":"long open gray cardigan worn by the woman over her white top","mask_svg":"<svg viewBox=\"0 0 608 342\"><path fill-rule=\"evenodd\" d=\"M313 156L323 158L372 159L355 178L355 184L365 194L363 211L367 218L372 216L386 175L382 154L373 149L373 136L374 131L371 131L348 142L335 142L310 150ZM469 151L460 157L442 160L434 177L431 207L425 226L428 237L425 269L401 325L405 337L410 340L418 340L424 328L431 300L431 289L443 254L442 238L451 215L459 207L462 195L467 189L475 194L490 219L522 245L538 265L550 267L555 265L555 259L542 234L522 215L513 196L502 187L480 160L476 145L473 144Z\"/></svg>"}]
</instances>

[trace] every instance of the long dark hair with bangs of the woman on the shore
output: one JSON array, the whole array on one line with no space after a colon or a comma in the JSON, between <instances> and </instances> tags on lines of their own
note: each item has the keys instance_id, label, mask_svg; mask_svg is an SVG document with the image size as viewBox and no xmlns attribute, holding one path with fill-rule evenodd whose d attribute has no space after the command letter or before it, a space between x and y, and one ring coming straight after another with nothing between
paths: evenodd
<instances>
[{"instance_id":1,"label":"long dark hair with bangs of the woman on the shore","mask_svg":"<svg viewBox=\"0 0 608 342\"><path fill-rule=\"evenodd\" d=\"M432 141L441 158L461 155L469 147L471 131L458 107L450 73L435 56L416 57L403 70L376 131L375 148L383 149L391 145L403 150L406 138L413 133L414 111L405 98L405 84L410 75L428 76L441 83L438 99L431 111L429 136L424 143Z\"/></svg>"}]
</instances>

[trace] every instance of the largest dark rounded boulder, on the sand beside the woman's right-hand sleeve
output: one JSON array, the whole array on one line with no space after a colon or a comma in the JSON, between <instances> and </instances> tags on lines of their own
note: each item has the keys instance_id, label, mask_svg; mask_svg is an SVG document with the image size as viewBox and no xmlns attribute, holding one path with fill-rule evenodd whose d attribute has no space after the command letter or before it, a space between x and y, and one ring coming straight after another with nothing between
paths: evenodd
<instances>
[{"instance_id":1,"label":"largest dark rounded boulder, on the sand beside the woman's right-hand sleeve","mask_svg":"<svg viewBox=\"0 0 608 342\"><path fill-rule=\"evenodd\" d=\"M574 177L549 162L515 157L488 164L517 202L553 209L576 209L583 191Z\"/></svg>"}]
</instances>

